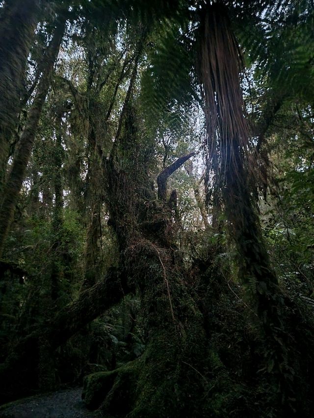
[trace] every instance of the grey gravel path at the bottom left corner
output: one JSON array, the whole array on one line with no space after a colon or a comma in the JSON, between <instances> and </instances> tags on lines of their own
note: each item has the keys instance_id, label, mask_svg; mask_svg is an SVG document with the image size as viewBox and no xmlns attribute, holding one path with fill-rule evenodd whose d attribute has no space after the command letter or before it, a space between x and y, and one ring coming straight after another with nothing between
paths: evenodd
<instances>
[{"instance_id":1,"label":"grey gravel path at the bottom left corner","mask_svg":"<svg viewBox=\"0 0 314 418\"><path fill-rule=\"evenodd\" d=\"M81 400L82 388L31 396L0 407L0 418L95 417Z\"/></svg>"}]
</instances>

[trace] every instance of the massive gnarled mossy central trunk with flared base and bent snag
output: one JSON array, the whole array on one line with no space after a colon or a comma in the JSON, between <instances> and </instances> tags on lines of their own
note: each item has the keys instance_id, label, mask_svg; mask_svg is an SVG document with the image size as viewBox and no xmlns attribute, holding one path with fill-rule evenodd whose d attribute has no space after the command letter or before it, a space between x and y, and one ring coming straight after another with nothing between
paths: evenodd
<instances>
[{"instance_id":1,"label":"massive gnarled mossy central trunk with flared base and bent snag","mask_svg":"<svg viewBox=\"0 0 314 418\"><path fill-rule=\"evenodd\" d=\"M210 384L204 371L209 366L204 318L186 284L174 213L149 186L149 154L137 142L133 108L125 110L125 118L106 164L107 204L129 281L141 298L146 350L121 369L87 378L84 396L91 407L102 404L104 416L198 416ZM126 167L119 165L123 155L124 161L132 155ZM172 172L186 159L179 159ZM162 186L166 195L165 182ZM148 196L155 209L147 212Z\"/></svg>"}]
</instances>

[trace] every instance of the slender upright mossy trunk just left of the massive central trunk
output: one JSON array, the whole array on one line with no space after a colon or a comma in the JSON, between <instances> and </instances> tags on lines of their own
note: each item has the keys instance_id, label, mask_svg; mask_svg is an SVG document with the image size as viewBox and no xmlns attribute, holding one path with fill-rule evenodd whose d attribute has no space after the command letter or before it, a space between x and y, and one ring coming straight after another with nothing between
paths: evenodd
<instances>
[{"instance_id":1,"label":"slender upright mossy trunk just left of the massive central trunk","mask_svg":"<svg viewBox=\"0 0 314 418\"><path fill-rule=\"evenodd\" d=\"M109 27L107 27L109 29ZM89 28L88 36L99 36L94 33L94 28ZM87 36L87 39L88 39ZM102 102L102 89L110 82L112 68L103 65L107 58L103 47L104 40L100 44L86 44L88 73L86 77L86 124L87 128L87 174L85 180L84 206L86 216L86 247L85 247L85 274L82 289L88 289L97 282L101 274L102 264L102 224L101 212L104 202L105 179L102 170L102 160L106 155L108 139L107 120L110 117L116 100L116 93L124 77L119 77L116 91L110 101L107 112L104 111ZM107 52L107 51L106 51ZM102 81L100 81L102 80Z\"/></svg>"}]
</instances>

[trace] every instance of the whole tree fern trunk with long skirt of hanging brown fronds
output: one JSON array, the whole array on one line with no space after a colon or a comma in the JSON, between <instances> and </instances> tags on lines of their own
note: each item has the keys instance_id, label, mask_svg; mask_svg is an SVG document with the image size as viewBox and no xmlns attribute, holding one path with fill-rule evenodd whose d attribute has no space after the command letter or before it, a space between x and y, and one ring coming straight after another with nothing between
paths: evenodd
<instances>
[{"instance_id":1,"label":"whole tree fern trunk with long skirt of hanging brown fronds","mask_svg":"<svg viewBox=\"0 0 314 418\"><path fill-rule=\"evenodd\" d=\"M283 397L294 398L295 371L291 370L299 369L300 359L292 354L296 347L287 332L285 296L270 264L253 198L257 160L244 117L241 53L223 2L209 4L202 13L198 72L208 133L208 177L215 179L221 191L240 255L240 274L255 301L265 342L264 369L271 372Z\"/></svg>"}]
</instances>

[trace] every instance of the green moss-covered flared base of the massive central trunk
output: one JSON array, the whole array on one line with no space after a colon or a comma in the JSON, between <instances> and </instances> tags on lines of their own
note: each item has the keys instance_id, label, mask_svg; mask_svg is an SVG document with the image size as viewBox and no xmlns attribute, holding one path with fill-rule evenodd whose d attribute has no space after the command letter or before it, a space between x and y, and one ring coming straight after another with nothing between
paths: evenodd
<instances>
[{"instance_id":1,"label":"green moss-covered flared base of the massive central trunk","mask_svg":"<svg viewBox=\"0 0 314 418\"><path fill-rule=\"evenodd\" d=\"M201 416L195 412L205 380L194 368L202 365L191 357L190 343L175 330L159 330L140 358L113 372L87 376L85 399L94 400L94 408L102 403L99 412L105 417Z\"/></svg>"}]
</instances>

